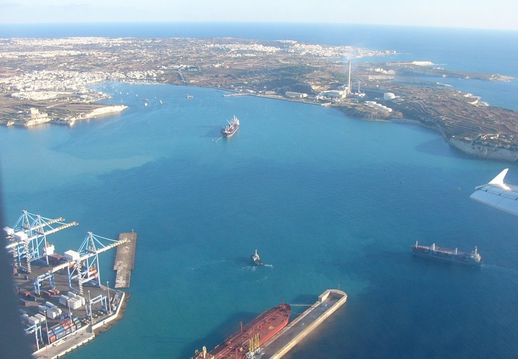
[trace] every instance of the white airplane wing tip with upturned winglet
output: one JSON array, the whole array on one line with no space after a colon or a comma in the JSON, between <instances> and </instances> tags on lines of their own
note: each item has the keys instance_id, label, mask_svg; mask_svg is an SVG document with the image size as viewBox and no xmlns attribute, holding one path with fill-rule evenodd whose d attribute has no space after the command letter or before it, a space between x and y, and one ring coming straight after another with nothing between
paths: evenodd
<instances>
[{"instance_id":1,"label":"white airplane wing tip with upturned winglet","mask_svg":"<svg viewBox=\"0 0 518 359\"><path fill-rule=\"evenodd\" d=\"M518 216L518 186L503 183L508 170L500 172L491 182L475 187L469 198Z\"/></svg>"}]
</instances>

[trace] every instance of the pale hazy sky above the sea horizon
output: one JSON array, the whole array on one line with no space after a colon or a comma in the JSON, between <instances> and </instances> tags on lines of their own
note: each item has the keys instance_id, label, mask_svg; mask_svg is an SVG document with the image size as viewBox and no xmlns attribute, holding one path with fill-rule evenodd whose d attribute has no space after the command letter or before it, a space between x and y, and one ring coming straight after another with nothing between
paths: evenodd
<instances>
[{"instance_id":1,"label":"pale hazy sky above the sea horizon","mask_svg":"<svg viewBox=\"0 0 518 359\"><path fill-rule=\"evenodd\" d=\"M0 0L0 23L313 22L518 30L515 0Z\"/></svg>"}]
</instances>

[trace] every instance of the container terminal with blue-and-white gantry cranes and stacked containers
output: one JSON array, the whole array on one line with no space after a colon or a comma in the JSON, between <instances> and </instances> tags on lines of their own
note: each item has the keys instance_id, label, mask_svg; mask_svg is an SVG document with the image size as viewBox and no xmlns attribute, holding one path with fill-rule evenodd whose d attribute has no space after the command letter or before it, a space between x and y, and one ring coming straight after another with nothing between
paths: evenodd
<instances>
[{"instance_id":1,"label":"container terminal with blue-and-white gantry cranes and stacked containers","mask_svg":"<svg viewBox=\"0 0 518 359\"><path fill-rule=\"evenodd\" d=\"M130 244L125 255L117 257L120 267L133 269L137 234L121 233L119 240L111 240L88 232L78 251L55 252L47 236L76 225L62 217L23 211L12 228L3 228L12 255L20 321L32 338L34 358L57 358L78 348L108 330L125 308L127 294L110 288L108 282L101 284L98 255ZM129 274L126 277L125 287Z\"/></svg>"}]
</instances>

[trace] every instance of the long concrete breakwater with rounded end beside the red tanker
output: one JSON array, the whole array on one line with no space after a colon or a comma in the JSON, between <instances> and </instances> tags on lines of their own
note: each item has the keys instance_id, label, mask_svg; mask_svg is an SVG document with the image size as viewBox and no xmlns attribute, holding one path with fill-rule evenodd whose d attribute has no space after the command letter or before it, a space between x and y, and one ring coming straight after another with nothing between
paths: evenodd
<instances>
[{"instance_id":1,"label":"long concrete breakwater with rounded end beside the red tanker","mask_svg":"<svg viewBox=\"0 0 518 359\"><path fill-rule=\"evenodd\" d=\"M282 357L346 301L347 294L345 292L338 289L327 289L310 308L264 344L262 358L278 359Z\"/></svg>"}]
</instances>

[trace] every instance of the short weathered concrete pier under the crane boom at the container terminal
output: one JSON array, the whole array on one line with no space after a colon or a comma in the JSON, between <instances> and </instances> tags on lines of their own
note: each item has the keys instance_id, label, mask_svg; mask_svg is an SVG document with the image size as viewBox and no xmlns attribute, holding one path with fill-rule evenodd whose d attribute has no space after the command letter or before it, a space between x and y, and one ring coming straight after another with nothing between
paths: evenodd
<instances>
[{"instance_id":1,"label":"short weathered concrete pier under the crane boom at the container terminal","mask_svg":"<svg viewBox=\"0 0 518 359\"><path fill-rule=\"evenodd\" d=\"M115 276L116 288L130 287L131 271L135 266L135 247L137 244L137 233L120 233L119 241L127 239L128 242L117 246L113 270L117 271Z\"/></svg>"}]
</instances>

